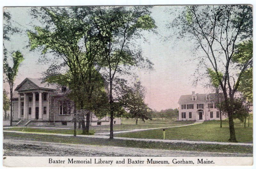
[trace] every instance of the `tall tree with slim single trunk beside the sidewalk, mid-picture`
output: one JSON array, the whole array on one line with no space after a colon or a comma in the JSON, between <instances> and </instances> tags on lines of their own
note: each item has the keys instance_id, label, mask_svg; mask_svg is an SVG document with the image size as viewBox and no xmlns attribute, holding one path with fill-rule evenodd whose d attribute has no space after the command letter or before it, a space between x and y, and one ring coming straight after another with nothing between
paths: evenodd
<instances>
[{"instance_id":1,"label":"tall tree with slim single trunk beside the sidewalk, mid-picture","mask_svg":"<svg viewBox=\"0 0 256 169\"><path fill-rule=\"evenodd\" d=\"M143 30L156 28L149 14L147 6L100 7L92 11L93 24L102 44L102 57L98 64L104 69L101 73L109 84L110 139L114 138L114 92L118 86L118 76L131 74L131 69L136 66L152 67L152 63L142 56L141 50L136 50L133 41L142 36Z\"/></svg>"}]
</instances>

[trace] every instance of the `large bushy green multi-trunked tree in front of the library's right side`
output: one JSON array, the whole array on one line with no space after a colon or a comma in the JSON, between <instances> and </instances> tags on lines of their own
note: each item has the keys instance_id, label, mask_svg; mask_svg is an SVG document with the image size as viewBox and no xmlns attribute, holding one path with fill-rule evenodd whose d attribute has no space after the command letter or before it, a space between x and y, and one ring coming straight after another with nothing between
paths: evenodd
<instances>
[{"instance_id":1,"label":"large bushy green multi-trunked tree in front of the library's right side","mask_svg":"<svg viewBox=\"0 0 256 169\"><path fill-rule=\"evenodd\" d=\"M33 10L33 15L41 16L46 24L44 28L35 27L36 32L28 32L31 50L41 48L43 54L50 52L54 55L52 60L44 59L44 62L51 63L45 73L47 81L58 84L65 82L72 91L70 96L75 107L88 110L84 114L86 125L84 118L81 121L84 134L89 133L90 114L94 110L95 100L98 100L97 97L94 98L98 96L95 92L104 88L104 81L95 65L101 42L96 29L90 23L90 17L87 16L89 9L44 7ZM95 113L99 115L97 111Z\"/></svg>"}]
</instances>

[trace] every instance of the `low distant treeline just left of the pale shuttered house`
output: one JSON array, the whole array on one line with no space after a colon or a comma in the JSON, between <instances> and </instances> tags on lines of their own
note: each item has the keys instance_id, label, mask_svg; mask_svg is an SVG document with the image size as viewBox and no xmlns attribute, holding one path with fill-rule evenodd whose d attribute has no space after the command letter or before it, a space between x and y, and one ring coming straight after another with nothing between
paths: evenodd
<instances>
[{"instance_id":1,"label":"low distant treeline just left of the pale shuttered house","mask_svg":"<svg viewBox=\"0 0 256 169\"><path fill-rule=\"evenodd\" d=\"M166 118L166 119L174 119L179 117L178 109L166 109L161 111L152 111L152 118Z\"/></svg>"}]
</instances>

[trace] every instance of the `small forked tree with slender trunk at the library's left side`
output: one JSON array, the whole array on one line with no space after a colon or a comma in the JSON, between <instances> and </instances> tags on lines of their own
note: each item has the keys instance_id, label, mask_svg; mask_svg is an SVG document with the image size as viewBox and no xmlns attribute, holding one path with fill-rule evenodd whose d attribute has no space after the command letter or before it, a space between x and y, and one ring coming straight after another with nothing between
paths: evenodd
<instances>
[{"instance_id":1,"label":"small forked tree with slender trunk at the library's left side","mask_svg":"<svg viewBox=\"0 0 256 169\"><path fill-rule=\"evenodd\" d=\"M12 53L13 66L11 67L7 61L7 56L4 55L3 72L6 76L5 80L8 82L10 87L10 100L11 100L11 114L10 114L10 126L12 126L12 92L15 78L18 74L21 62L24 60L20 51Z\"/></svg>"}]
</instances>

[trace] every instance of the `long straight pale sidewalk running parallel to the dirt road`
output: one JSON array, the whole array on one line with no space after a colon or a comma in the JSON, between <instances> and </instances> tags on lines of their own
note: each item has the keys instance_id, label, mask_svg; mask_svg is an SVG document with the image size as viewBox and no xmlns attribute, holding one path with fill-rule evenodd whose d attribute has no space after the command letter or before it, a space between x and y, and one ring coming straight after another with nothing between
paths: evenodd
<instances>
[{"instance_id":1,"label":"long straight pale sidewalk running parallel to the dirt road","mask_svg":"<svg viewBox=\"0 0 256 169\"><path fill-rule=\"evenodd\" d=\"M39 133L39 132L24 132L24 131L11 131L4 130L6 133L28 133L28 134L42 134L42 135L58 135L58 136L73 136L73 134L56 134L56 133ZM107 135L77 135L78 137L89 137L89 138L103 138L108 139ZM163 139L142 139L142 138L127 138L127 137L115 137L120 140L135 140L135 141L146 141L146 142L170 142L178 143L184 142L189 144L219 144L219 145L243 145L252 146L252 143L236 143L236 142L204 142L204 141L187 141L187 140L163 140Z\"/></svg>"}]
</instances>

